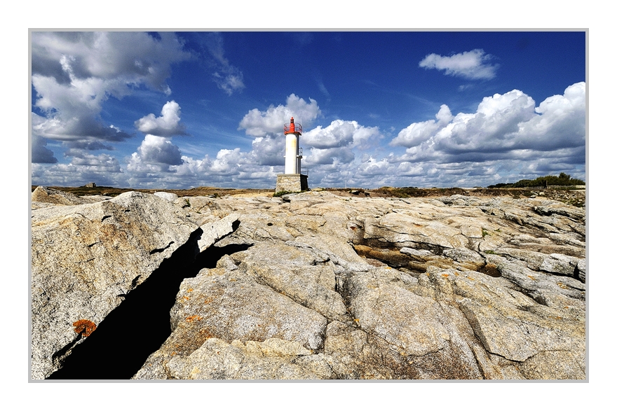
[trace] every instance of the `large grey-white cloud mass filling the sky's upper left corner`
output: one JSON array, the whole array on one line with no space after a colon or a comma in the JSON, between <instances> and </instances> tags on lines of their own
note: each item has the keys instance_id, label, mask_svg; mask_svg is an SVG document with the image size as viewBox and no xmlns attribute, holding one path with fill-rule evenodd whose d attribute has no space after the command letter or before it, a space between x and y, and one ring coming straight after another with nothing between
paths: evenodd
<instances>
[{"instance_id":1,"label":"large grey-white cloud mass filling the sky's upper left corner","mask_svg":"<svg viewBox=\"0 0 617 411\"><path fill-rule=\"evenodd\" d=\"M32 85L39 113L32 133L80 147L123 141L129 134L100 119L109 97L135 87L170 93L165 83L174 62L187 60L175 34L144 32L33 32Z\"/></svg>"}]
</instances>

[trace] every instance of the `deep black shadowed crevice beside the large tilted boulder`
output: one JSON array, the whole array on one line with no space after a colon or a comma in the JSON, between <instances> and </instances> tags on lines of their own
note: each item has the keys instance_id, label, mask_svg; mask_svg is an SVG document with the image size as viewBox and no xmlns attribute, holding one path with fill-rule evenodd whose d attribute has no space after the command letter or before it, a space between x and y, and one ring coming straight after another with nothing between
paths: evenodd
<instances>
[{"instance_id":1,"label":"deep black shadowed crevice beside the large tilted boulder","mask_svg":"<svg viewBox=\"0 0 617 411\"><path fill-rule=\"evenodd\" d=\"M211 246L199 253L198 229L170 258L163 260L146 281L72 349L60 370L48 379L130 379L150 354L171 334L170 309L182 280L195 277L204 267L215 267L225 254L248 249L232 244Z\"/></svg>"}]
</instances>

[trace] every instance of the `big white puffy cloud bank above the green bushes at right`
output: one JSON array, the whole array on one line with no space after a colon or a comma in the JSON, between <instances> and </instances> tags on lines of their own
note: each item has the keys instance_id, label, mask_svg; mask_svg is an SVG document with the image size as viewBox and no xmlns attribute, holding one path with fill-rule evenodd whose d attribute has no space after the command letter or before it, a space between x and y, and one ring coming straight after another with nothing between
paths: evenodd
<instances>
[{"instance_id":1,"label":"big white puffy cloud bank above the green bushes at right","mask_svg":"<svg viewBox=\"0 0 617 411\"><path fill-rule=\"evenodd\" d=\"M405 181L401 176L416 174L411 185L429 187L489 185L559 172L584 179L583 82L538 106L524 92L512 90L484 97L474 113L452 116L442 105L436 117L437 121L412 123L391 141L407 150L384 161L398 167L407 163L408 172L385 165L375 169L375 162L360 167L360 172L377 176L388 169L399 185Z\"/></svg>"}]
</instances>

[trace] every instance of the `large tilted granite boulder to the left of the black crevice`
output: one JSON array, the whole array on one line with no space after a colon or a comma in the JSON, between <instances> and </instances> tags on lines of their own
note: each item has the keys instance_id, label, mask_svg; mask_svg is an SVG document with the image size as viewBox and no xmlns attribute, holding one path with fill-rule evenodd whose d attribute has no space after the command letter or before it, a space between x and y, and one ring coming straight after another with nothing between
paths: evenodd
<instances>
[{"instance_id":1,"label":"large tilted granite boulder to the left of the black crevice","mask_svg":"<svg viewBox=\"0 0 617 411\"><path fill-rule=\"evenodd\" d=\"M33 210L32 378L60 368L88 336L75 324L100 323L197 228L170 202L135 192Z\"/></svg>"}]
</instances>

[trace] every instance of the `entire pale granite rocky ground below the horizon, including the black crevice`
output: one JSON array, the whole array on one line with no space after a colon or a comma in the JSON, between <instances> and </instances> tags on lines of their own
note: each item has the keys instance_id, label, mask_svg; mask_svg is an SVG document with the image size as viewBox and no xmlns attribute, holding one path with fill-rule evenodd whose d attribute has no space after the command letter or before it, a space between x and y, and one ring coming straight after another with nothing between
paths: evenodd
<instances>
[{"instance_id":1,"label":"entire pale granite rocky ground below the horizon, including the black crevice","mask_svg":"<svg viewBox=\"0 0 617 411\"><path fill-rule=\"evenodd\" d=\"M585 379L585 209L445 194L37 188L32 378Z\"/></svg>"}]
</instances>

